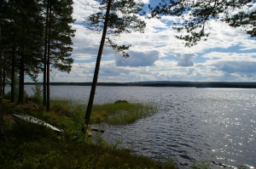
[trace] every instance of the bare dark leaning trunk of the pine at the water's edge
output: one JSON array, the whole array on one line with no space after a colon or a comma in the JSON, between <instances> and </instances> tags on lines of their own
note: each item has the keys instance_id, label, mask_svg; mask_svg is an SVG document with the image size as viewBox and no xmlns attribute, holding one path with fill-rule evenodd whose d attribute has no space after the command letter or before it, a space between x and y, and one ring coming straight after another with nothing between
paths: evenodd
<instances>
[{"instance_id":1,"label":"bare dark leaning trunk of the pine at the water's edge","mask_svg":"<svg viewBox=\"0 0 256 169\"><path fill-rule=\"evenodd\" d=\"M95 66L93 81L92 81L91 89L90 89L90 98L89 98L89 102L88 102L88 105L87 105L86 114L85 114L85 117L84 117L85 124L87 126L88 126L89 121L90 121L90 113L91 113L91 110L92 110L94 95L95 95L95 92L96 92L96 85L97 85L97 80L98 80L98 76L99 76L99 70L100 70L101 59L102 59L102 52L103 52L104 43L105 43L107 30L108 30L108 17L109 17L109 13L110 13L111 3L112 3L112 0L108 0L108 8L107 8L107 13L106 13L106 19L104 21L104 28L103 28L103 32L102 32L102 41L101 41L101 45L100 45L99 52L98 52L97 59L96 59L96 66Z\"/></svg>"}]
</instances>

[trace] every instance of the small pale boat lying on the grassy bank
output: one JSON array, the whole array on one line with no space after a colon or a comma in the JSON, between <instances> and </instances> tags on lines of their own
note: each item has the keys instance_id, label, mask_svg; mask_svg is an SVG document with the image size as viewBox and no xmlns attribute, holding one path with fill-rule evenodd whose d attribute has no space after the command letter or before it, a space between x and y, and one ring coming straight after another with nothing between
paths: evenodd
<instances>
[{"instance_id":1,"label":"small pale boat lying on the grassy bank","mask_svg":"<svg viewBox=\"0 0 256 169\"><path fill-rule=\"evenodd\" d=\"M19 123L22 123L23 121L27 121L27 122L35 123L38 125L43 125L45 127L49 127L50 129L52 129L56 132L63 132L62 129L54 127L45 121L42 121L36 117L33 117L32 115L25 115L22 113L13 113L12 116L13 116L13 119Z\"/></svg>"}]
</instances>

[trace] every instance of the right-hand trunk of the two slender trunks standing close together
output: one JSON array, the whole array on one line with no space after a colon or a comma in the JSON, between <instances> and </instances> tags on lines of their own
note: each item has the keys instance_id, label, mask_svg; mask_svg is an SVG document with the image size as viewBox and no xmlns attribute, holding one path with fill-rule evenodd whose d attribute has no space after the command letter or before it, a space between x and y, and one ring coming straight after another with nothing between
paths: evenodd
<instances>
[{"instance_id":1,"label":"right-hand trunk of the two slender trunks standing close together","mask_svg":"<svg viewBox=\"0 0 256 169\"><path fill-rule=\"evenodd\" d=\"M50 18L51 18L51 5L49 4L49 30L48 30L48 52L47 52L47 104L46 110L49 111L49 59L50 59Z\"/></svg>"}]
</instances>

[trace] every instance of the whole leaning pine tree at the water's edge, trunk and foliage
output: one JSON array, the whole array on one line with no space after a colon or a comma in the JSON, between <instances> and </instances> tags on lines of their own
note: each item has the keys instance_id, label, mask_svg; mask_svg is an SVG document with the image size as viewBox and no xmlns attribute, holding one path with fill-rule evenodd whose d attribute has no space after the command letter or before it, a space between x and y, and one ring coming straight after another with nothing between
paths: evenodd
<instances>
[{"instance_id":1,"label":"whole leaning pine tree at the water's edge, trunk and foliage","mask_svg":"<svg viewBox=\"0 0 256 169\"><path fill-rule=\"evenodd\" d=\"M84 21L85 27L90 31L102 31L102 41L96 59L90 99L84 117L86 125L90 121L104 45L113 48L121 56L127 58L129 54L125 53L125 50L128 50L130 45L117 45L111 37L117 37L121 33L131 33L131 31L143 32L146 26L145 22L138 17L138 14L143 11L143 3L136 3L133 0L98 0L97 2L99 4L98 8L102 12L91 14ZM105 43L105 40L108 41Z\"/></svg>"}]
</instances>

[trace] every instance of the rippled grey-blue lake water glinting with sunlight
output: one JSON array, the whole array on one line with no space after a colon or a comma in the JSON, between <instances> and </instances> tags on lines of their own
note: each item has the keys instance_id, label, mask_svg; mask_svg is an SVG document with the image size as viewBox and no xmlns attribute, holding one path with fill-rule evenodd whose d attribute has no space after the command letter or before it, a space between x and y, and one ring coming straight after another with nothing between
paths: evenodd
<instances>
[{"instance_id":1,"label":"rippled grey-blue lake water glinting with sunlight","mask_svg":"<svg viewBox=\"0 0 256 169\"><path fill-rule=\"evenodd\" d=\"M32 93L32 86L26 91ZM51 86L51 97L87 104L90 87ZM106 126L102 137L138 155L171 156L180 168L192 161L211 168L256 166L256 89L182 87L97 87L95 104L125 99L154 104L158 113L121 127ZM161 159L163 160L163 158Z\"/></svg>"}]
</instances>

